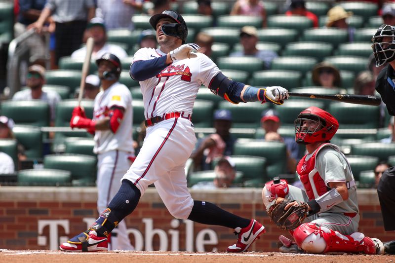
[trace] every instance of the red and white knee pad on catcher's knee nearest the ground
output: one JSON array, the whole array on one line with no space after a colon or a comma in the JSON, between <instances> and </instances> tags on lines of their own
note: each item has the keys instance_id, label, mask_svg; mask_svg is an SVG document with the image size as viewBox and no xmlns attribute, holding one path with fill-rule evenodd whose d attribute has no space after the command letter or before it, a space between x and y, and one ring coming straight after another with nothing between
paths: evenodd
<instances>
[{"instance_id":1,"label":"red and white knee pad on catcher's knee nearest the ground","mask_svg":"<svg viewBox=\"0 0 395 263\"><path fill-rule=\"evenodd\" d=\"M326 227L318 227L313 223L305 223L295 228L293 237L298 247L308 253L320 254L325 251L327 245L322 232L329 230Z\"/></svg>"}]
</instances>

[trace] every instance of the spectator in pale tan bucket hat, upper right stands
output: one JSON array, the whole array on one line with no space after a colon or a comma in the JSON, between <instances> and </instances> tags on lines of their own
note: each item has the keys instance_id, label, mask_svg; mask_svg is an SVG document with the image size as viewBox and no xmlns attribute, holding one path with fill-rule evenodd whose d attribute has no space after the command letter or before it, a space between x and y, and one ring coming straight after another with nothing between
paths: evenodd
<instances>
[{"instance_id":1,"label":"spectator in pale tan bucket hat, upper right stands","mask_svg":"<svg viewBox=\"0 0 395 263\"><path fill-rule=\"evenodd\" d=\"M353 12L346 12L343 7L341 7L340 5L336 5L329 9L326 15L326 27L345 29L348 31L349 34L349 41L354 41L356 29L354 27L350 27L347 22L347 18L352 16Z\"/></svg>"}]
</instances>

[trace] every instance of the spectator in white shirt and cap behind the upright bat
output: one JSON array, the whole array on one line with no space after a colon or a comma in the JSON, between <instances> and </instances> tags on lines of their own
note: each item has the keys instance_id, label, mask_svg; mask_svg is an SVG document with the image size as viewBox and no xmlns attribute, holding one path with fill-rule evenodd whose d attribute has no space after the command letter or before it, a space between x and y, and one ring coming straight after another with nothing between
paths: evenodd
<instances>
[{"instance_id":1,"label":"spectator in white shirt and cap behind the upright bat","mask_svg":"<svg viewBox=\"0 0 395 263\"><path fill-rule=\"evenodd\" d=\"M105 53L116 55L119 59L127 57L127 53L118 45L107 43L106 25L100 17L92 18L87 25L87 37L93 38L92 60L96 61ZM82 58L86 55L86 46L77 49L71 58Z\"/></svg>"}]
</instances>

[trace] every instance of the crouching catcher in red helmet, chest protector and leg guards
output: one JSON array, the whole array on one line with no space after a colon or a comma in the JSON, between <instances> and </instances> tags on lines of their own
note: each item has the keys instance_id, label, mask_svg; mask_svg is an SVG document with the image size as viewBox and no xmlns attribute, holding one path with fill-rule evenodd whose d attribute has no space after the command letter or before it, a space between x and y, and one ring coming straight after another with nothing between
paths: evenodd
<instances>
[{"instance_id":1,"label":"crouching catcher in red helmet, chest protector and leg guards","mask_svg":"<svg viewBox=\"0 0 395 263\"><path fill-rule=\"evenodd\" d=\"M262 191L272 221L295 239L281 235L279 250L393 254L391 242L357 232L356 182L346 157L330 143L338 128L336 118L317 107L303 110L295 120L295 140L308 151L297 165L305 190L276 178Z\"/></svg>"}]
</instances>

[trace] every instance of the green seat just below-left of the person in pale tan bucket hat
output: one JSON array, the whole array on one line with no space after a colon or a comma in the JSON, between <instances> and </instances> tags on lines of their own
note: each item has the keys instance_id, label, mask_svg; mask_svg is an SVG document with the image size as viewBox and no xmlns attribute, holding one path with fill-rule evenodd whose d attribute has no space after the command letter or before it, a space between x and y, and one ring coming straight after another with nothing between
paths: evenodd
<instances>
[{"instance_id":1,"label":"green seat just below-left of the person in pale tan bucket hat","mask_svg":"<svg viewBox=\"0 0 395 263\"><path fill-rule=\"evenodd\" d=\"M333 45L334 48L340 43L349 41L347 30L338 28L311 28L303 32L300 40L303 41L321 41Z\"/></svg>"}]
</instances>

